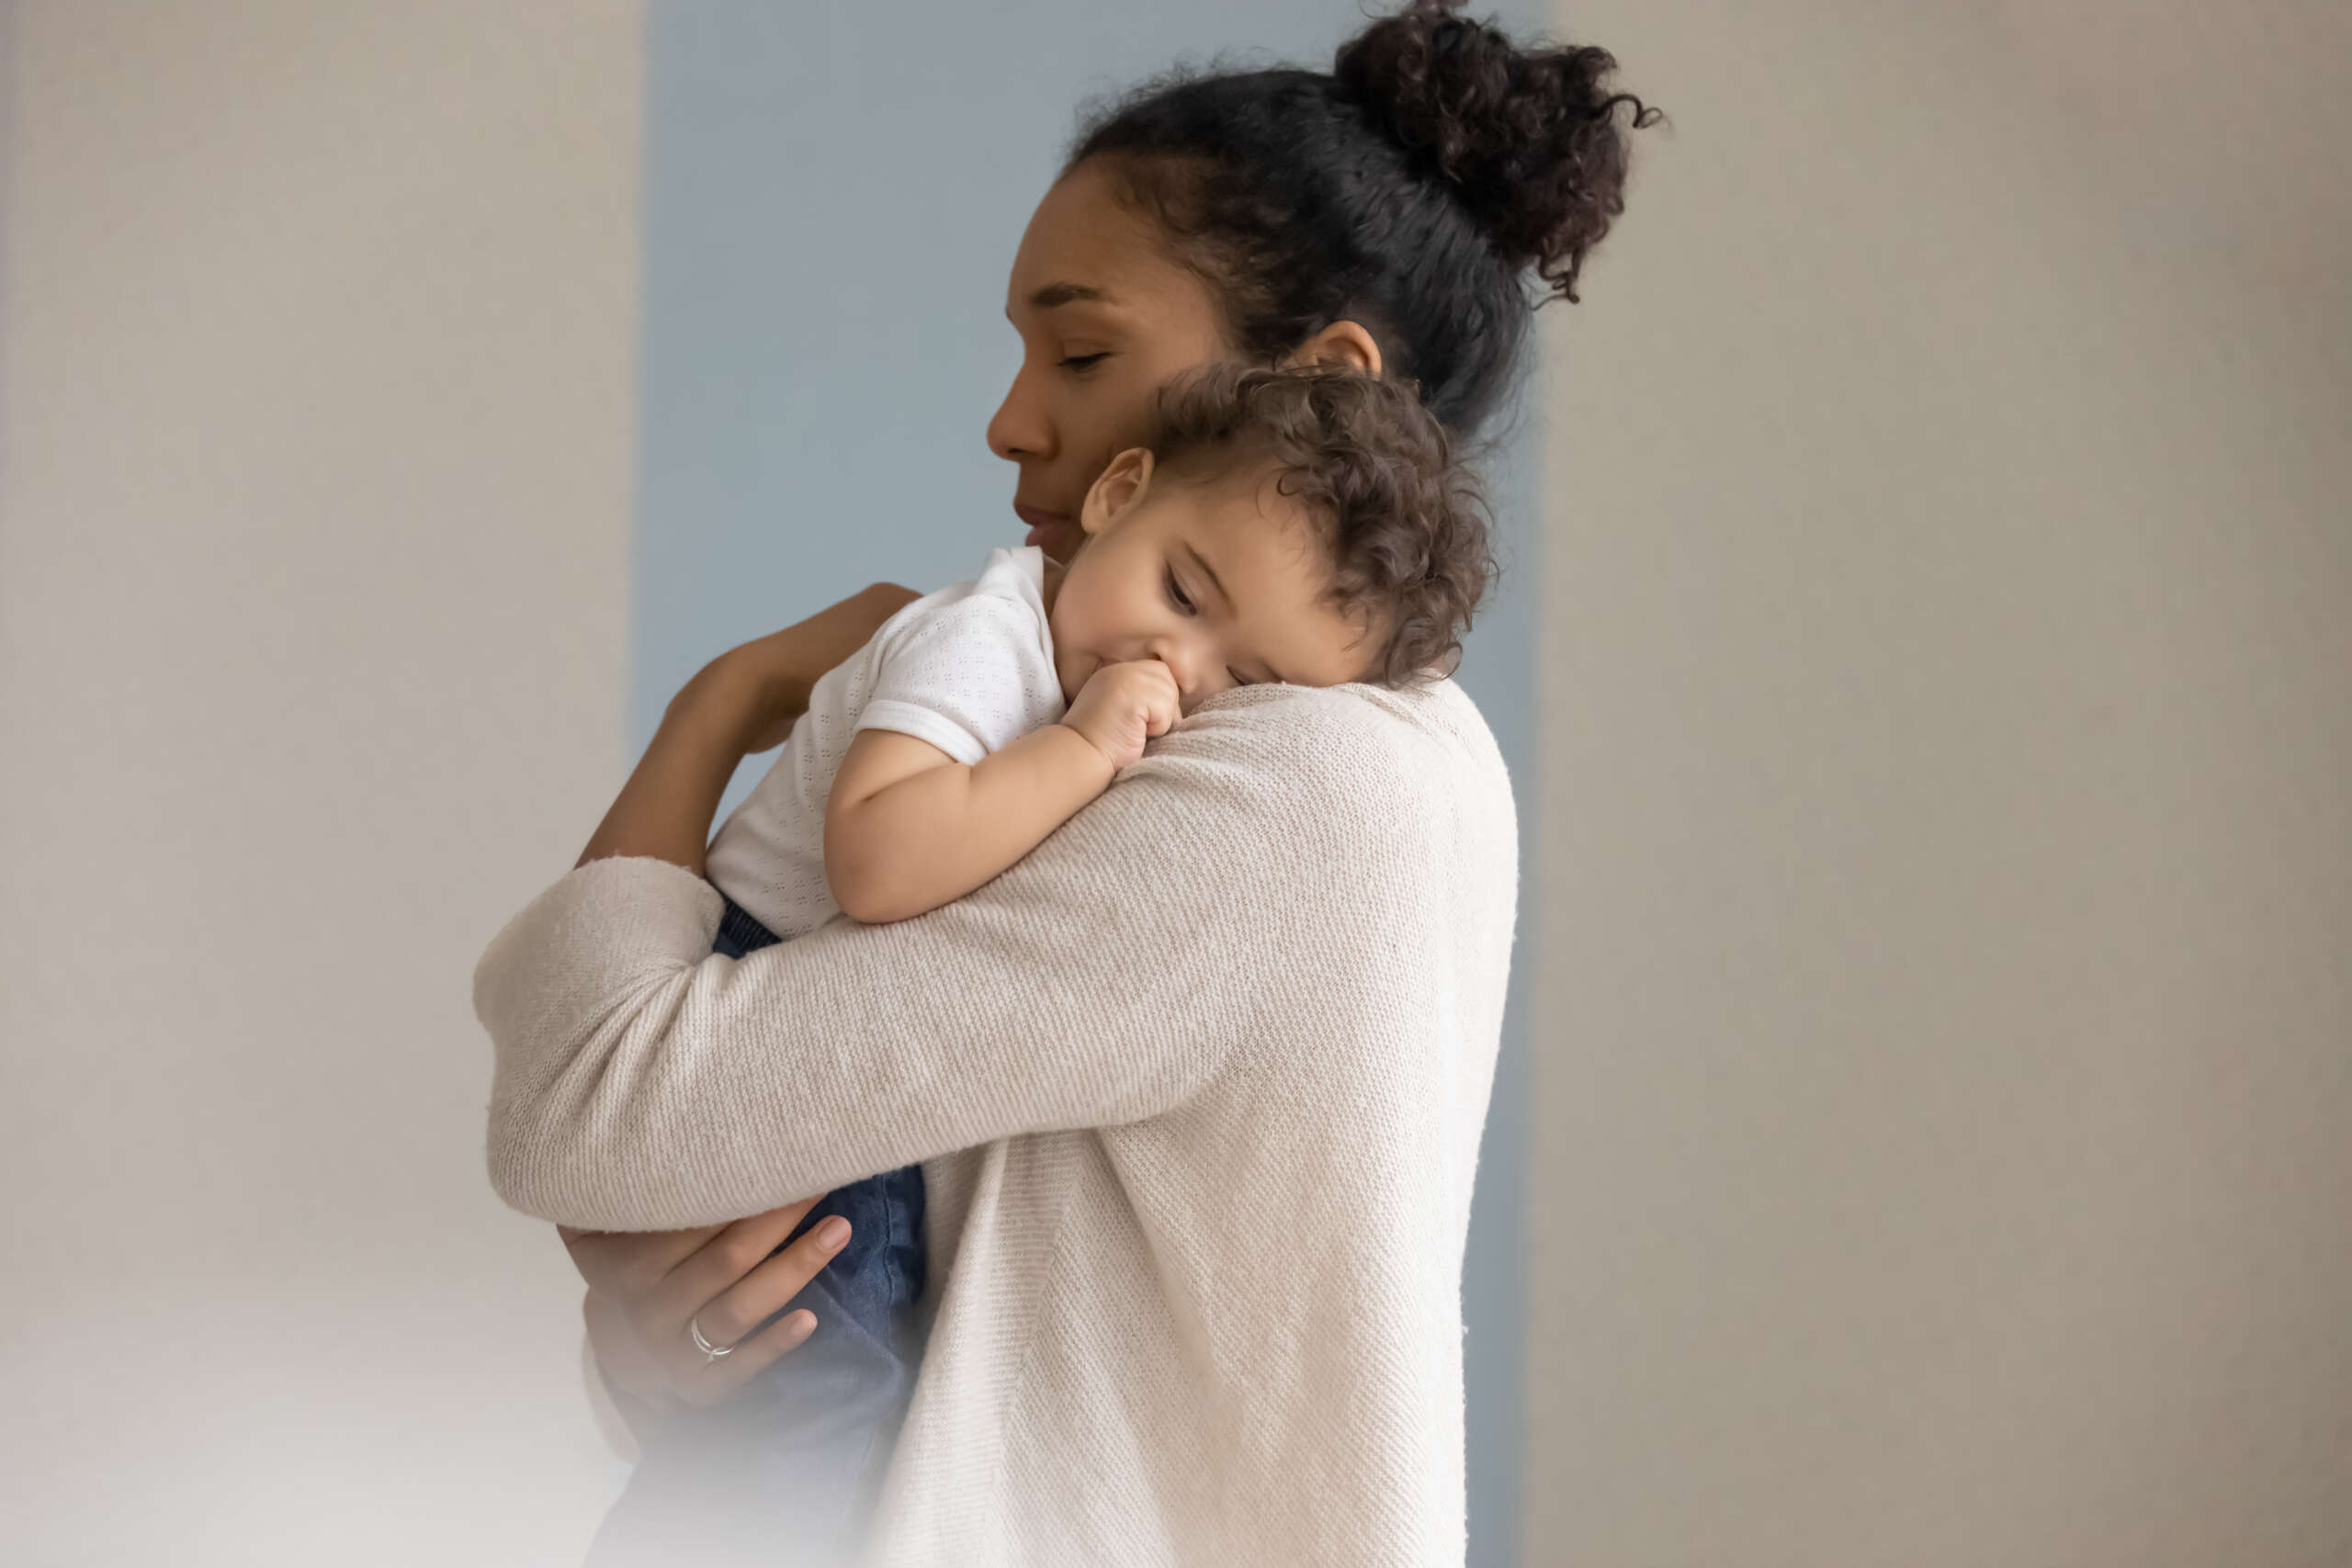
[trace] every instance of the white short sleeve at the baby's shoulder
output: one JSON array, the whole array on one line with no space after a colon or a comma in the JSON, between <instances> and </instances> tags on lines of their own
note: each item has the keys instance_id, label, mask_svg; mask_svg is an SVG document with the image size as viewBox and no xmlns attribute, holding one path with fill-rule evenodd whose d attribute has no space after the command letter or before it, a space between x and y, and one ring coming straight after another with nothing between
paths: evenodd
<instances>
[{"instance_id":1,"label":"white short sleeve at the baby's shoulder","mask_svg":"<svg viewBox=\"0 0 2352 1568\"><path fill-rule=\"evenodd\" d=\"M1063 715L1037 564L1025 555L997 550L971 592L891 628L856 729L915 736L969 764Z\"/></svg>"}]
</instances>

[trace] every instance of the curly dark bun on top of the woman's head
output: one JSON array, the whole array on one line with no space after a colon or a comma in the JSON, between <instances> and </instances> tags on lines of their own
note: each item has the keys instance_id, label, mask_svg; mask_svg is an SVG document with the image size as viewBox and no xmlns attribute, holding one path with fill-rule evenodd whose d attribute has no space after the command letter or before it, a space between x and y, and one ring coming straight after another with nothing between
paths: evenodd
<instances>
[{"instance_id":1,"label":"curly dark bun on top of the woman's head","mask_svg":"<svg viewBox=\"0 0 2352 1568\"><path fill-rule=\"evenodd\" d=\"M1364 118L1449 181L1512 266L1536 266L1550 292L1576 299L1576 268L1625 212L1625 136L1661 118L1632 94L1609 94L1606 49L1522 49L1505 33L1456 16L1461 0L1411 0L1350 38L1331 66Z\"/></svg>"}]
</instances>

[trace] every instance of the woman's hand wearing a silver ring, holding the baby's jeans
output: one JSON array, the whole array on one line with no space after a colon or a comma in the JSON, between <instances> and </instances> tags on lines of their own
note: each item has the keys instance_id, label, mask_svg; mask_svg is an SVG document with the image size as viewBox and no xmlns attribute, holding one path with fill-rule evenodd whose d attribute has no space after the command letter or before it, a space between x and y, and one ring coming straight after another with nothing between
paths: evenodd
<instances>
[{"instance_id":1,"label":"woman's hand wearing a silver ring, holding the baby's jeans","mask_svg":"<svg viewBox=\"0 0 2352 1568\"><path fill-rule=\"evenodd\" d=\"M823 1197L823 1194L818 1194ZM753 1333L800 1295L849 1241L840 1215L769 1258L816 1199L786 1204L734 1225L661 1232L595 1232L557 1225L572 1267L588 1281L583 1314L604 1382L630 1396L633 1425L682 1408L715 1406L786 1356L816 1314L800 1309ZM694 1347L734 1345L720 1359Z\"/></svg>"}]
</instances>

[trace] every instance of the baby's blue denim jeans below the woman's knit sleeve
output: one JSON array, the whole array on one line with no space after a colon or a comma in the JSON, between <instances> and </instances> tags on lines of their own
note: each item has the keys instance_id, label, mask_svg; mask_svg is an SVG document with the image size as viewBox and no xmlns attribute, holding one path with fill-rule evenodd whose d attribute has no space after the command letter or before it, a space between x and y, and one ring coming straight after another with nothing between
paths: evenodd
<instances>
[{"instance_id":1,"label":"baby's blue denim jeans below the woman's knit sleeve","mask_svg":"<svg viewBox=\"0 0 2352 1568\"><path fill-rule=\"evenodd\" d=\"M774 940L729 898L710 950L741 959ZM854 1554L922 1356L922 1166L835 1187L793 1237L833 1213L849 1244L786 1307L814 1312L816 1331L734 1399L644 1439L588 1568Z\"/></svg>"}]
</instances>

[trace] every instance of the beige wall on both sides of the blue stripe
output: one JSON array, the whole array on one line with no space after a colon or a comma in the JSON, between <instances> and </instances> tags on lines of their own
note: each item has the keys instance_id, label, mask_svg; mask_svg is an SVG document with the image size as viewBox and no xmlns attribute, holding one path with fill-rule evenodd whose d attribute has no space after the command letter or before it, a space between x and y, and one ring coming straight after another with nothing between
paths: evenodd
<instances>
[{"instance_id":1,"label":"beige wall on both sides of the blue stripe","mask_svg":"<svg viewBox=\"0 0 2352 1568\"><path fill-rule=\"evenodd\" d=\"M2352 1559L2340 16L1564 19L1677 127L1548 313L1531 1563ZM626 766L640 19L0 28L0 1556L576 1561L466 976Z\"/></svg>"}]
</instances>

